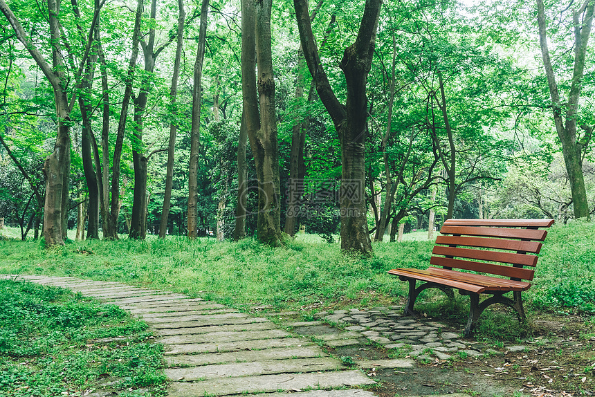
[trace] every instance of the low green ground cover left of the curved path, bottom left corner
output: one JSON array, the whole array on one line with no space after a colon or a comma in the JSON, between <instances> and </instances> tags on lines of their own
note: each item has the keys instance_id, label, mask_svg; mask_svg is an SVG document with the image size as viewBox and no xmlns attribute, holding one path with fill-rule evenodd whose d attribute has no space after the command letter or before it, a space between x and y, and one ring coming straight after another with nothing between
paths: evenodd
<instances>
[{"instance_id":1,"label":"low green ground cover left of the curved path, bottom left corner","mask_svg":"<svg viewBox=\"0 0 595 397\"><path fill-rule=\"evenodd\" d=\"M162 347L118 306L64 288L0 280L0 395L161 396Z\"/></svg>"}]
</instances>

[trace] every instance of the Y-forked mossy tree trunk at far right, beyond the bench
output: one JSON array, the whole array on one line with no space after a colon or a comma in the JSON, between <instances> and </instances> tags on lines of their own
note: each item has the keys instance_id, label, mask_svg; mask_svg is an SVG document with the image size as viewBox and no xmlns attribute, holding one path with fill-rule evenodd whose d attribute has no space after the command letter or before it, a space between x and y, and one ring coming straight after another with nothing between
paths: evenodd
<instances>
[{"instance_id":1,"label":"Y-forked mossy tree trunk at far right, beyond the bench","mask_svg":"<svg viewBox=\"0 0 595 397\"><path fill-rule=\"evenodd\" d=\"M536 0L536 3L538 9L539 41L542 59L553 105L553 120L556 124L558 137L562 143L562 154L564 155L564 162L570 184L574 216L576 219L590 219L589 203L587 201L587 192L585 190L583 176L582 152L584 147L582 142L577 140L576 126L578 118L578 101L580 99L580 92L583 89L583 75L585 73L585 59L588 48L587 44L591 34L595 2L587 0L579 10L573 11L574 71L572 74L568 101L564 104L560 101L558 84L556 83L556 76L553 73L553 66L551 65L549 56L543 0ZM583 15L582 22L579 21L580 15ZM562 113L564 112L565 116L562 116Z\"/></svg>"}]
</instances>

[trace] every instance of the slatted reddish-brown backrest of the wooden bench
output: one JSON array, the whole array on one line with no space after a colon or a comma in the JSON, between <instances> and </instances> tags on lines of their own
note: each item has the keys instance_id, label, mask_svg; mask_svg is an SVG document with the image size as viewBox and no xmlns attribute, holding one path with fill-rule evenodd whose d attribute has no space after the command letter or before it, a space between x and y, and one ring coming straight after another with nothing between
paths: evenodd
<instances>
[{"instance_id":1,"label":"slatted reddish-brown backrest of the wooden bench","mask_svg":"<svg viewBox=\"0 0 595 397\"><path fill-rule=\"evenodd\" d=\"M547 235L539 228L552 224L553 219L448 219L430 264L532 280L541 241Z\"/></svg>"}]
</instances>

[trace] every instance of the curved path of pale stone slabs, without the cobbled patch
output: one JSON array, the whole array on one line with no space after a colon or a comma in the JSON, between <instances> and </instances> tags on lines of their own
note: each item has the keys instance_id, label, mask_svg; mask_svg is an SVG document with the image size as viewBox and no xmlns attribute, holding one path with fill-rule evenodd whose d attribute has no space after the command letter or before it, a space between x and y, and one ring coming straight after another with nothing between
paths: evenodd
<instances>
[{"instance_id":1,"label":"curved path of pale stone slabs, without the cobbled patch","mask_svg":"<svg viewBox=\"0 0 595 397\"><path fill-rule=\"evenodd\" d=\"M68 288L141 317L154 331L156 342L165 346L165 373L172 381L168 388L172 397L261 393L277 397L288 391L295 397L374 396L365 387L376 382L362 371L348 369L311 339L298 338L264 317L179 293L117 282L0 277Z\"/></svg>"}]
</instances>

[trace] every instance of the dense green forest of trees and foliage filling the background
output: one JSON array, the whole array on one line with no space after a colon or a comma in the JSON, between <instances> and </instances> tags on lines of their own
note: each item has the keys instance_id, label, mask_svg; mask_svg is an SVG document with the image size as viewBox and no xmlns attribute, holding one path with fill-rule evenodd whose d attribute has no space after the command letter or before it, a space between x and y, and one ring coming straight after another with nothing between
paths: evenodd
<instances>
[{"instance_id":1,"label":"dense green forest of trees and foliage filling the background","mask_svg":"<svg viewBox=\"0 0 595 397\"><path fill-rule=\"evenodd\" d=\"M590 219L595 0L0 0L22 239ZM0 222L0 225L2 222Z\"/></svg>"}]
</instances>

